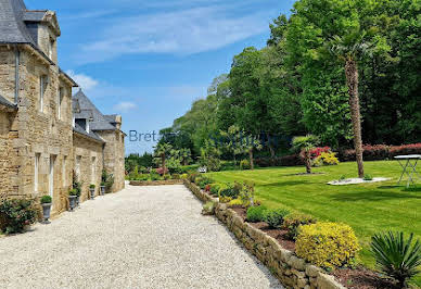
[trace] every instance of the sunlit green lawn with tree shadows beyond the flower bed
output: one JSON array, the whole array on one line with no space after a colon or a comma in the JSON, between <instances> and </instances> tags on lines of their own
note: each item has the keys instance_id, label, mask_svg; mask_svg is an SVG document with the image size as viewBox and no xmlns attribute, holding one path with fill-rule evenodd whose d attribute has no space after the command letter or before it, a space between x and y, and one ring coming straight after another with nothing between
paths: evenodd
<instances>
[{"instance_id":1,"label":"sunlit green lawn with tree shadows beyond the flower bed","mask_svg":"<svg viewBox=\"0 0 421 289\"><path fill-rule=\"evenodd\" d=\"M401 167L395 161L366 162L366 174L391 177L373 184L329 186L340 176L356 177L356 163L314 168L315 175L296 175L304 167L276 167L256 171L209 173L217 181L253 181L256 198L268 208L289 208L311 214L320 221L350 225L362 246L361 262L373 267L370 237L379 231L403 230L421 239L421 189L404 191L397 186ZM421 285L421 277L417 278Z\"/></svg>"}]
</instances>

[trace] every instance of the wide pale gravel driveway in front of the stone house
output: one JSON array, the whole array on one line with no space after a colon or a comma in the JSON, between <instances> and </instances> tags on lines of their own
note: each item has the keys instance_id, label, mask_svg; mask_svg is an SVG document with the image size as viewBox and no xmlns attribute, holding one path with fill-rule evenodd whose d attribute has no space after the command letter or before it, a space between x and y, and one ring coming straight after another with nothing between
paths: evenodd
<instances>
[{"instance_id":1,"label":"wide pale gravel driveway in front of the stone house","mask_svg":"<svg viewBox=\"0 0 421 289\"><path fill-rule=\"evenodd\" d=\"M0 238L0 288L282 288L183 186L131 187Z\"/></svg>"}]
</instances>

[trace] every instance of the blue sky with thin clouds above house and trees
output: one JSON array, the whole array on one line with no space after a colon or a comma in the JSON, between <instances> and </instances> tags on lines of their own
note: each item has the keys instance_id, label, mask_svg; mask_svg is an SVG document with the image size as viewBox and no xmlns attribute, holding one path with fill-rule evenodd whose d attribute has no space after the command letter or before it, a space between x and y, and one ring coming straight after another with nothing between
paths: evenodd
<instances>
[{"instance_id":1,"label":"blue sky with thin clouds above house and trees","mask_svg":"<svg viewBox=\"0 0 421 289\"><path fill-rule=\"evenodd\" d=\"M123 130L158 131L205 97L245 47L265 46L269 23L294 0L26 0L58 13L59 62ZM126 153L153 142L126 140Z\"/></svg>"}]
</instances>

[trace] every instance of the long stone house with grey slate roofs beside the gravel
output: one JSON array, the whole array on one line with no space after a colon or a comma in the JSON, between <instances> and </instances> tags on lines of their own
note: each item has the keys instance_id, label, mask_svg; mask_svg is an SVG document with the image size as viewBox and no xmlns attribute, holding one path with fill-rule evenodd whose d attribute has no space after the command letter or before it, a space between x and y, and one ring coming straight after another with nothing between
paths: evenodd
<instances>
[{"instance_id":1,"label":"long stone house with grey slate roofs beside the gravel","mask_svg":"<svg viewBox=\"0 0 421 289\"><path fill-rule=\"evenodd\" d=\"M122 117L103 115L58 64L61 30L52 11L0 0L0 199L53 198L67 209L73 172L88 187L102 169L124 188ZM97 190L98 193L98 190Z\"/></svg>"}]
</instances>

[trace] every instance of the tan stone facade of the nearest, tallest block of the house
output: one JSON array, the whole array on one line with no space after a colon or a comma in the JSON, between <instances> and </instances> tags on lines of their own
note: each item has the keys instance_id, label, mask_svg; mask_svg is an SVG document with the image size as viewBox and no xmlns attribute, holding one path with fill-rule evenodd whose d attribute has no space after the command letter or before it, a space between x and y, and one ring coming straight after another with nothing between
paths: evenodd
<instances>
[{"instance_id":1,"label":"tan stone facade of the nearest, tallest block of the house","mask_svg":"<svg viewBox=\"0 0 421 289\"><path fill-rule=\"evenodd\" d=\"M13 174L9 171L10 184L7 194L23 198L51 194L52 211L53 214L56 214L66 210L67 191L72 184L68 181L73 167L72 84L61 79L58 66L50 65L42 58L37 58L33 50L21 46L20 51L18 110L10 114L9 118L8 155ZM44 85L42 108L40 103L41 75L48 79ZM64 97L59 120L60 88ZM12 47L7 46L0 46L0 93L14 102L15 51ZM4 120L3 117L2 123ZM37 155L39 155L38 174L35 172ZM53 161L52 178L50 178L51 161ZM38 177L37 189L36 175Z\"/></svg>"}]
</instances>

